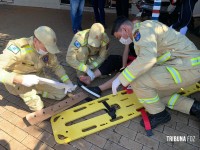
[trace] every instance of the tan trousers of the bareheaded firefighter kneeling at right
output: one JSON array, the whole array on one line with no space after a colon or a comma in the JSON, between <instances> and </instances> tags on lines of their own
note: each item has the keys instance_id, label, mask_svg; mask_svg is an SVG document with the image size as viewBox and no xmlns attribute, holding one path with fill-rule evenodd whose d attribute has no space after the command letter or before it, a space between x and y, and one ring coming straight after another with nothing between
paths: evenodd
<instances>
[{"instance_id":1,"label":"tan trousers of the bareheaded firefighter kneeling at right","mask_svg":"<svg viewBox=\"0 0 200 150\"><path fill-rule=\"evenodd\" d=\"M182 83L176 84L165 66L155 66L131 83L138 99L151 99L158 96L159 100L154 103L143 103L150 114L162 112L169 107L170 99L180 88L188 87L200 80L200 67L190 70L178 70ZM194 100L179 96L173 104L174 110L189 114Z\"/></svg>"}]
</instances>

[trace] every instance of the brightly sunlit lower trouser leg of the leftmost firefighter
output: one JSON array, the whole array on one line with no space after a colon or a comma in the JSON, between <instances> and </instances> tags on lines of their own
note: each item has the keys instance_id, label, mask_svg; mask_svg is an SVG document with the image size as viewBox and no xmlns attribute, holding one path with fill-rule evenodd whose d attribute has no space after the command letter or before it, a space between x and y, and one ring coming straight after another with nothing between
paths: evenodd
<instances>
[{"instance_id":1,"label":"brightly sunlit lower trouser leg of the leftmost firefighter","mask_svg":"<svg viewBox=\"0 0 200 150\"><path fill-rule=\"evenodd\" d=\"M34 89L30 92L26 92L25 94L20 94L19 96L32 111L41 110L44 107L40 96L37 95L37 91Z\"/></svg>"}]
</instances>

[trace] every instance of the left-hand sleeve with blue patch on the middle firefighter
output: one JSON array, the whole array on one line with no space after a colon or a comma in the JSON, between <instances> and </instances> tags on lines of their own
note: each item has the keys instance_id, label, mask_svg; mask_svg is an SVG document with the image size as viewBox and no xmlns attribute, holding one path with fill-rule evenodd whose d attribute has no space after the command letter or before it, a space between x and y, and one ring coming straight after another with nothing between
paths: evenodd
<instances>
[{"instance_id":1,"label":"left-hand sleeve with blue patch on the middle firefighter","mask_svg":"<svg viewBox=\"0 0 200 150\"><path fill-rule=\"evenodd\" d=\"M82 48L82 42L80 42L77 35L75 35L69 45L66 61L72 68L82 72L86 72L88 66L85 63L80 62L77 59L77 55L81 56L82 58L88 57L88 52L85 51L84 48Z\"/></svg>"}]
</instances>

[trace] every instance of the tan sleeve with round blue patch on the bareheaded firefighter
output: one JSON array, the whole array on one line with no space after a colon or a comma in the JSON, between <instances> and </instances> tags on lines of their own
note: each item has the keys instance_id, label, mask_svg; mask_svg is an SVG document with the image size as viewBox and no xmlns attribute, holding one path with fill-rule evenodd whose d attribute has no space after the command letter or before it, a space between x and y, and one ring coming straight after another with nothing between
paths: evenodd
<instances>
[{"instance_id":1,"label":"tan sleeve with round blue patch on the bareheaded firefighter","mask_svg":"<svg viewBox=\"0 0 200 150\"><path fill-rule=\"evenodd\" d=\"M141 31L141 32L140 32ZM147 72L157 61L157 41L156 34L151 28L143 28L134 33L133 39L137 47L138 56L124 71L119 75L120 82L127 86L137 77Z\"/></svg>"}]
</instances>

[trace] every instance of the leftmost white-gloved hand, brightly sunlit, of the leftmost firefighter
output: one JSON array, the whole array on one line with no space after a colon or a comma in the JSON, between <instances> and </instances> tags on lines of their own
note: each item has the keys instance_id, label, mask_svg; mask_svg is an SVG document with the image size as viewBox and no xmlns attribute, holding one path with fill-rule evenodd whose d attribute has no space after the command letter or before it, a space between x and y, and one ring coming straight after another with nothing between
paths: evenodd
<instances>
[{"instance_id":1,"label":"leftmost white-gloved hand, brightly sunlit, of the leftmost firefighter","mask_svg":"<svg viewBox=\"0 0 200 150\"><path fill-rule=\"evenodd\" d=\"M22 85L30 87L39 83L39 77L36 75L23 75Z\"/></svg>"}]
</instances>

